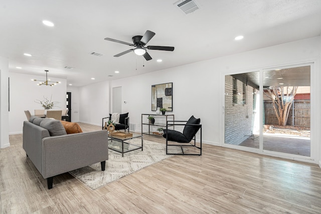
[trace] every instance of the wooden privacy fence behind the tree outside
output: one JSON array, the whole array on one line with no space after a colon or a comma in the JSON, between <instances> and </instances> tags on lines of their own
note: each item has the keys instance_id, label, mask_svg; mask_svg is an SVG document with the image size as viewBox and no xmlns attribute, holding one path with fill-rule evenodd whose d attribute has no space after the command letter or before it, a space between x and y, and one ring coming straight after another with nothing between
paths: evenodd
<instances>
[{"instance_id":1,"label":"wooden privacy fence behind the tree outside","mask_svg":"<svg viewBox=\"0 0 321 214\"><path fill-rule=\"evenodd\" d=\"M265 124L278 125L271 100L264 100L264 118ZM286 125L310 127L310 100L293 101Z\"/></svg>"}]
</instances>

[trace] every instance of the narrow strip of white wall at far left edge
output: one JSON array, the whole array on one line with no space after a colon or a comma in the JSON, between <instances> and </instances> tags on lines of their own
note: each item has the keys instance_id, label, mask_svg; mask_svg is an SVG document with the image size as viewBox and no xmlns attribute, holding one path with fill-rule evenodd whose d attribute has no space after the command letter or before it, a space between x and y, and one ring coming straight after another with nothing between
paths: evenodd
<instances>
[{"instance_id":1,"label":"narrow strip of white wall at far left edge","mask_svg":"<svg viewBox=\"0 0 321 214\"><path fill-rule=\"evenodd\" d=\"M0 148L10 146L8 77L9 59L0 57Z\"/></svg>"}]
</instances>

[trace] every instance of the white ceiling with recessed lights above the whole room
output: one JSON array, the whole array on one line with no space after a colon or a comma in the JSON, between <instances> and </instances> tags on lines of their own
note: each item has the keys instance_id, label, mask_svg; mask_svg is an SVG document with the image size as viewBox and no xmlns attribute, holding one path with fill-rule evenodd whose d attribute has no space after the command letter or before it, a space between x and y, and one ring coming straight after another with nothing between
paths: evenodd
<instances>
[{"instance_id":1,"label":"white ceiling with recessed lights above the whole room","mask_svg":"<svg viewBox=\"0 0 321 214\"><path fill-rule=\"evenodd\" d=\"M176 0L1 0L0 56L9 58L10 72L49 70L49 78L83 86L321 34L320 0L196 1L200 9L185 15ZM146 30L156 33L147 45L174 46L174 52L148 50L150 61L133 52L116 58L132 47L104 40L131 43ZM244 39L234 41L238 35Z\"/></svg>"}]
</instances>

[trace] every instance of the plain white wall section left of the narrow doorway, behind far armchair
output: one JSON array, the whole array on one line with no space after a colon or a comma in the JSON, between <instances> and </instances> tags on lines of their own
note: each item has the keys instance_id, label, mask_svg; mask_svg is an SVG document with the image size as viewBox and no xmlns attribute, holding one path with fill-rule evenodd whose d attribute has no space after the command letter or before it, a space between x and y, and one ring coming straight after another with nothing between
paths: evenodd
<instances>
[{"instance_id":1,"label":"plain white wall section left of the narrow doorway, behind far armchair","mask_svg":"<svg viewBox=\"0 0 321 214\"><path fill-rule=\"evenodd\" d=\"M101 125L109 113L109 83L100 82L79 88L79 121Z\"/></svg>"}]
</instances>

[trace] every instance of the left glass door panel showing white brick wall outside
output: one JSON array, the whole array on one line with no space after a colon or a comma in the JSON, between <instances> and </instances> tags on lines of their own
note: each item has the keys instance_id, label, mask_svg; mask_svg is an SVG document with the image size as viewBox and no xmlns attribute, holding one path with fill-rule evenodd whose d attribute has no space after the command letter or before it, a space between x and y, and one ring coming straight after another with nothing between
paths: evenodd
<instances>
[{"instance_id":1,"label":"left glass door panel showing white brick wall outside","mask_svg":"<svg viewBox=\"0 0 321 214\"><path fill-rule=\"evenodd\" d=\"M259 148L259 71L225 76L225 143Z\"/></svg>"}]
</instances>

